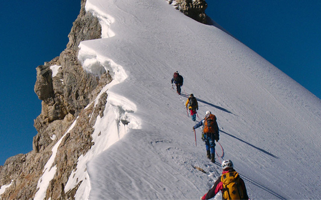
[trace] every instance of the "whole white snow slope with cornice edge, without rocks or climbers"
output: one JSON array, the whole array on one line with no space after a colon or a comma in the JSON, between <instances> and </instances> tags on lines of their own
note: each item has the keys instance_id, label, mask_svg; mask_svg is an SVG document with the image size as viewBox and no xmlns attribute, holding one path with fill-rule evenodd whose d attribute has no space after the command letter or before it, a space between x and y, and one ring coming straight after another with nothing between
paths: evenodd
<instances>
[{"instance_id":1,"label":"whole white snow slope with cornice edge, without rocks or climbers","mask_svg":"<svg viewBox=\"0 0 321 200\"><path fill-rule=\"evenodd\" d=\"M234 162L251 199L321 195L320 99L166 0L87 0L86 10L99 18L103 38L81 42L78 57L86 70L110 70L114 80L103 90L95 144L65 191L83 181L79 199L199 199L221 169L206 158L201 128L195 146L184 105L194 93L199 117L206 110L217 116L224 148L217 161ZM181 96L170 83L176 70L184 76Z\"/></svg>"}]
</instances>

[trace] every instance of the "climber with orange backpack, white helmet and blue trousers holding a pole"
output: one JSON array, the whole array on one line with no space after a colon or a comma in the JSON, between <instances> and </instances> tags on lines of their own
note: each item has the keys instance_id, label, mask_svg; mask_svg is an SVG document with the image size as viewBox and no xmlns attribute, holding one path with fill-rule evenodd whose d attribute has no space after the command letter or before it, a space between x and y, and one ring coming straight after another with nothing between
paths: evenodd
<instances>
[{"instance_id":1,"label":"climber with orange backpack, white helmet and blue trousers holding a pole","mask_svg":"<svg viewBox=\"0 0 321 200\"><path fill-rule=\"evenodd\" d=\"M206 111L205 118L193 126L193 129L201 125L203 125L202 140L205 141L207 158L211 159L211 162L215 162L215 140L220 139L216 116L211 111Z\"/></svg>"}]
</instances>

